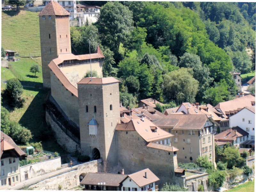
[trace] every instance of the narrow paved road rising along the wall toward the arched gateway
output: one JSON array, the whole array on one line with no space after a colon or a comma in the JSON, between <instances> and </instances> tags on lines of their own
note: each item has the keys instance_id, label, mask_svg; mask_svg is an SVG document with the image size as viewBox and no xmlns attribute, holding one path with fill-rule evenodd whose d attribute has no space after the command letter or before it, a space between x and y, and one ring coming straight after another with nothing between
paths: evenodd
<instances>
[{"instance_id":1,"label":"narrow paved road rising along the wall toward the arched gateway","mask_svg":"<svg viewBox=\"0 0 256 192\"><path fill-rule=\"evenodd\" d=\"M60 174L63 174L63 173L66 173L68 171L72 171L72 170L75 170L77 169L77 166L75 167L67 167L67 168L63 168L63 169L60 169L60 170L57 170L57 171L53 171L51 173L48 173L48 174L44 174L44 175L40 175L40 176L37 176L37 177L33 177L31 179L28 179L26 181L22 181L20 183L17 183L15 184L15 186L6 186L6 187L3 187L1 188L2 189L11 189L11 190L17 190L17 189L21 189L25 186L30 186L30 185L33 185L35 183L38 183L39 181L43 181L45 179L48 179L48 178L51 178L51 177L54 177L54 176L57 176L57 175L60 175Z\"/></svg>"}]
</instances>

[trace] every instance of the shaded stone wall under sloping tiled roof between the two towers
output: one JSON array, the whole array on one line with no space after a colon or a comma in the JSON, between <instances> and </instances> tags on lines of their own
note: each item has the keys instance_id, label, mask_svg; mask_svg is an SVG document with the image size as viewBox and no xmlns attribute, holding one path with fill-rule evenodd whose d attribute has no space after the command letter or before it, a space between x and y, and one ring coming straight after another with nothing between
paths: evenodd
<instances>
[{"instance_id":1,"label":"shaded stone wall under sloping tiled roof between the two towers","mask_svg":"<svg viewBox=\"0 0 256 192\"><path fill-rule=\"evenodd\" d=\"M71 121L79 125L78 98L72 95L51 71L52 97Z\"/></svg>"}]
</instances>

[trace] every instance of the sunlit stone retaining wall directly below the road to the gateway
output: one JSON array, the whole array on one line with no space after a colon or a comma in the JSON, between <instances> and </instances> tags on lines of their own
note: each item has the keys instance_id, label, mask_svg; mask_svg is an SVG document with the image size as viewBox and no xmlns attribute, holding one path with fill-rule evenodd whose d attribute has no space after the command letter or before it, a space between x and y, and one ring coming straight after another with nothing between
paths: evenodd
<instances>
[{"instance_id":1,"label":"sunlit stone retaining wall directly below the road to the gateway","mask_svg":"<svg viewBox=\"0 0 256 192\"><path fill-rule=\"evenodd\" d=\"M79 185L79 176L87 173L102 172L103 163L101 159L86 162L77 166L73 166L69 171L49 177L34 185L29 186L36 190L58 190L59 185L62 190L68 190Z\"/></svg>"}]
</instances>

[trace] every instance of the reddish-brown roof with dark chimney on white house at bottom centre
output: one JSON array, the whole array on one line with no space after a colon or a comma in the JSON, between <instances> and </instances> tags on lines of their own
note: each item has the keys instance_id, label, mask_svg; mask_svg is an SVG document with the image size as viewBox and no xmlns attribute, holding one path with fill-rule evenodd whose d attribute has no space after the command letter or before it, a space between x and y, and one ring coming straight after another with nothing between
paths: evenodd
<instances>
[{"instance_id":1,"label":"reddish-brown roof with dark chimney on white house at bottom centre","mask_svg":"<svg viewBox=\"0 0 256 192\"><path fill-rule=\"evenodd\" d=\"M146 174L145 174L146 173ZM146 177L147 175L147 177ZM160 179L150 169L144 169L128 175L139 187L159 181Z\"/></svg>"}]
</instances>

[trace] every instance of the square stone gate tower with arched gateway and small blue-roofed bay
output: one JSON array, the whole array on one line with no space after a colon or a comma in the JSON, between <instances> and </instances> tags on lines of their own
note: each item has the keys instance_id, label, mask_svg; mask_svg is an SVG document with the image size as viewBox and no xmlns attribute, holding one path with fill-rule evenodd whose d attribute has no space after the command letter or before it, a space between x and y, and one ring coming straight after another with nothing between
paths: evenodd
<instances>
[{"instance_id":1,"label":"square stone gate tower with arched gateway and small blue-roofed bay","mask_svg":"<svg viewBox=\"0 0 256 192\"><path fill-rule=\"evenodd\" d=\"M102 158L105 171L117 165L114 137L120 122L119 82L113 77L83 78L77 83L81 149Z\"/></svg>"}]
</instances>

